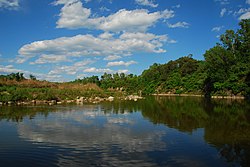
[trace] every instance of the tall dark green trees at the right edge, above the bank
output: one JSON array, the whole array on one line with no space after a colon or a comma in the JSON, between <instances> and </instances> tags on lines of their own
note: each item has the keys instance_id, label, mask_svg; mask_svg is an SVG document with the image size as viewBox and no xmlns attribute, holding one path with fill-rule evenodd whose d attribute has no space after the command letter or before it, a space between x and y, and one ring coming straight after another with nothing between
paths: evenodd
<instances>
[{"instance_id":1,"label":"tall dark green trees at the right edge, above the bank","mask_svg":"<svg viewBox=\"0 0 250 167\"><path fill-rule=\"evenodd\" d=\"M250 94L250 20L242 20L237 32L227 30L221 43L204 54L208 95Z\"/></svg>"}]
</instances>

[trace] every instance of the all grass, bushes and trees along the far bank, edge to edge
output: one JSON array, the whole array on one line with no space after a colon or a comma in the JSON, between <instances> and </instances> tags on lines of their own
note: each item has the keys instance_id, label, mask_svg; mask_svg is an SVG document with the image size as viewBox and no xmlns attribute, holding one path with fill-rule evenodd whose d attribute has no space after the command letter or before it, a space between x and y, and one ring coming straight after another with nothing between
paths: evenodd
<instances>
[{"instance_id":1,"label":"all grass, bushes and trees along the far bank, edge to edge","mask_svg":"<svg viewBox=\"0 0 250 167\"><path fill-rule=\"evenodd\" d=\"M23 73L0 75L0 101L64 100L77 96L126 94L250 95L250 19L240 29L227 30L221 43L207 50L204 60L192 55L166 64L153 64L140 76L124 73L85 77L68 83L39 81Z\"/></svg>"}]
</instances>

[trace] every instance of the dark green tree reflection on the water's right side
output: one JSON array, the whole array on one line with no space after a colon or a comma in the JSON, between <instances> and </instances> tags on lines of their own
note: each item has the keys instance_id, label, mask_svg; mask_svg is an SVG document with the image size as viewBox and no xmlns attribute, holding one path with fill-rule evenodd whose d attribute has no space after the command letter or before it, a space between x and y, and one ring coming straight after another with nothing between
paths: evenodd
<instances>
[{"instance_id":1,"label":"dark green tree reflection on the water's right side","mask_svg":"<svg viewBox=\"0 0 250 167\"><path fill-rule=\"evenodd\" d=\"M232 165L250 161L250 105L247 101L186 97L151 97L142 114L155 124L191 133L204 128L204 139Z\"/></svg>"}]
</instances>

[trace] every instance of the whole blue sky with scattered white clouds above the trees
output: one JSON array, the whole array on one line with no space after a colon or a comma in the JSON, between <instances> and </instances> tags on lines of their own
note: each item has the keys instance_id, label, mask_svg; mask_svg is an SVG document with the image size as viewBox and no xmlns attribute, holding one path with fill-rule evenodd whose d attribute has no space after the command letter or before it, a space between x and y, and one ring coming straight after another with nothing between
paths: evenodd
<instances>
[{"instance_id":1,"label":"whole blue sky with scattered white clouds above the trees","mask_svg":"<svg viewBox=\"0 0 250 167\"><path fill-rule=\"evenodd\" d=\"M0 0L0 74L55 82L140 75L203 54L250 18L250 0Z\"/></svg>"}]
</instances>

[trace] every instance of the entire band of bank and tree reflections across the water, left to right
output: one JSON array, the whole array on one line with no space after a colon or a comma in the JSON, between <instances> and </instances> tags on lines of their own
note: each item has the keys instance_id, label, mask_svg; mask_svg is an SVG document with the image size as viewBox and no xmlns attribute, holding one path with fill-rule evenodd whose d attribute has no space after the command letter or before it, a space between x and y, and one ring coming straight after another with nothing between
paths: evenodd
<instances>
[{"instance_id":1,"label":"entire band of bank and tree reflections across the water, left to right","mask_svg":"<svg viewBox=\"0 0 250 167\"><path fill-rule=\"evenodd\" d=\"M20 122L26 117L46 117L50 112L82 111L86 108L91 108L92 114L101 110L104 115L141 112L145 119L154 124L164 124L188 134L203 128L204 140L217 148L220 158L232 165L250 164L247 158L250 157L250 104L243 100L151 96L137 102L114 101L72 107L2 106L0 120ZM121 120L113 118L108 121L119 123Z\"/></svg>"}]
</instances>

